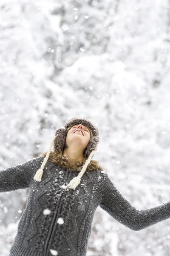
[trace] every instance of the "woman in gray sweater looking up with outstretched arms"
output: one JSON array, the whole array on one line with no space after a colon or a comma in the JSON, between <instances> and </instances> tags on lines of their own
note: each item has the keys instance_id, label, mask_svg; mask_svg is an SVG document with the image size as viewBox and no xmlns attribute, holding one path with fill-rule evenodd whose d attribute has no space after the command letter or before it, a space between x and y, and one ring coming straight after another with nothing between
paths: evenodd
<instances>
[{"instance_id":1,"label":"woman in gray sweater looking up with outstretched arms","mask_svg":"<svg viewBox=\"0 0 170 256\"><path fill-rule=\"evenodd\" d=\"M96 126L73 118L55 132L48 152L0 172L0 192L29 187L12 256L85 256L98 206L135 231L170 218L170 202L141 211L130 205L91 160L98 143Z\"/></svg>"}]
</instances>

